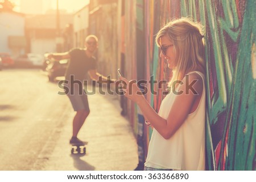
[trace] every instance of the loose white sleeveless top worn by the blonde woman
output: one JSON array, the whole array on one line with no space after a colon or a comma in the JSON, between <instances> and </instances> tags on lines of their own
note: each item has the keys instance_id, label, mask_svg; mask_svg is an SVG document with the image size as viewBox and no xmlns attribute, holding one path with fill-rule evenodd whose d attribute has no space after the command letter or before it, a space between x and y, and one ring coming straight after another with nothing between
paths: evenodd
<instances>
[{"instance_id":1,"label":"loose white sleeveless top worn by the blonde woman","mask_svg":"<svg viewBox=\"0 0 256 182\"><path fill-rule=\"evenodd\" d=\"M199 71L190 73L197 73L203 78L200 103L170 139L164 139L153 129L145 163L147 167L205 170L205 78ZM169 115L175 96L170 92L160 105L159 115L165 119Z\"/></svg>"}]
</instances>

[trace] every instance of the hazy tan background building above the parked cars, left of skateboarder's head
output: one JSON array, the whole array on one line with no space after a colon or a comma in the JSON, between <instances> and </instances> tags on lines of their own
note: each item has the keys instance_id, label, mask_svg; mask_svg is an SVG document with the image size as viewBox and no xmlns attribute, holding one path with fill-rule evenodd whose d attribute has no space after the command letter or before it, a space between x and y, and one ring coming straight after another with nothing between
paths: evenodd
<instances>
[{"instance_id":1,"label":"hazy tan background building above the parked cars, left of skateboarder's head","mask_svg":"<svg viewBox=\"0 0 256 182\"><path fill-rule=\"evenodd\" d=\"M60 32L57 32L56 15L29 15L26 18L27 53L48 53L67 51L64 46L63 31L73 24L71 14L59 16ZM59 34L59 35L58 35ZM72 35L71 35L72 36Z\"/></svg>"}]
</instances>

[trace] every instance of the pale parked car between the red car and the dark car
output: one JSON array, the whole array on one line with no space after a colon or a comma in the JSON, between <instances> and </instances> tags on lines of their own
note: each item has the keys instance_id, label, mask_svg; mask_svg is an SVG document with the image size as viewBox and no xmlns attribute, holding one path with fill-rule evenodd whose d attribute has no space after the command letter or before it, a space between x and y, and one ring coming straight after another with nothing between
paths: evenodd
<instances>
[{"instance_id":1,"label":"pale parked car between the red car and the dark car","mask_svg":"<svg viewBox=\"0 0 256 182\"><path fill-rule=\"evenodd\" d=\"M15 59L16 67L42 67L43 56L41 54L28 53L22 54Z\"/></svg>"}]
</instances>

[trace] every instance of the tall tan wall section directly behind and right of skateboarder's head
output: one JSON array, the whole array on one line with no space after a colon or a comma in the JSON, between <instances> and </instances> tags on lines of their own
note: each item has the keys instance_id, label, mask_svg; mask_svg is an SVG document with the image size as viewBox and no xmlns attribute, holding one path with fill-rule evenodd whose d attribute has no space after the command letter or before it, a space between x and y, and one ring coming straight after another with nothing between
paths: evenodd
<instances>
[{"instance_id":1,"label":"tall tan wall section directly behind and right of skateboarder's head","mask_svg":"<svg viewBox=\"0 0 256 182\"><path fill-rule=\"evenodd\" d=\"M98 69L103 75L117 78L117 2L94 3L90 9L89 19L92 26L89 26L89 34L98 37Z\"/></svg>"}]
</instances>

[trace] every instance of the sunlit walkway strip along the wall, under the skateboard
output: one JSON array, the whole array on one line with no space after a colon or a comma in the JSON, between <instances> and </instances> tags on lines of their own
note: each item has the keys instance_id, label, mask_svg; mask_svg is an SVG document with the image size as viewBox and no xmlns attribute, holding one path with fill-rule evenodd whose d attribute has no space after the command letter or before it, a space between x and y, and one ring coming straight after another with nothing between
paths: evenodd
<instances>
[{"instance_id":1,"label":"sunlit walkway strip along the wall, under the skateboard","mask_svg":"<svg viewBox=\"0 0 256 182\"><path fill-rule=\"evenodd\" d=\"M98 91L98 89L96 89ZM67 98L68 99L68 98ZM129 121L122 117L118 96L89 95L90 115L79 133L79 138L88 141L86 155L71 155L69 139L75 112L56 130L56 139L49 138L34 170L72 171L134 170L138 164L137 141ZM70 103L69 103L70 104ZM50 156L47 153L51 152Z\"/></svg>"}]
</instances>

